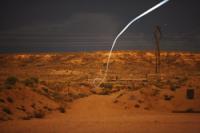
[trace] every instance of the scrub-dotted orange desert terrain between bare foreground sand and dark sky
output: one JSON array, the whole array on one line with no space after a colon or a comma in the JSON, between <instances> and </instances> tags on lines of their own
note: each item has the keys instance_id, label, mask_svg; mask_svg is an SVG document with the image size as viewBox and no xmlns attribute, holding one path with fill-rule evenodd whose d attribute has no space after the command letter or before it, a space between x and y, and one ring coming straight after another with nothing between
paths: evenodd
<instances>
[{"instance_id":1,"label":"scrub-dotted orange desert terrain between bare foreground sand and dark sky","mask_svg":"<svg viewBox=\"0 0 200 133\"><path fill-rule=\"evenodd\" d=\"M19 60L16 60L18 56L13 58L9 55L12 60L7 60L5 58L7 56L2 55L2 58L5 58L8 63L0 71L2 73L0 109L3 110L4 106L8 104L7 108L12 111L13 115L6 115L9 114L9 111L2 112L8 112L4 114L14 119L18 117L18 114L23 114L21 116L27 114L24 119L42 118L46 112L59 111L64 113L66 110L63 105L73 104L72 101L91 94L111 95L99 97L112 97L111 103L122 106L122 109L126 106L126 109L135 108L137 110L136 108L140 108L141 110L154 111L162 107L163 110L171 112L172 108L178 107L182 102L180 97L183 97L184 102L192 103L195 101L194 103L197 104L199 93L196 93L196 89L200 88L198 84L200 74L199 68L196 68L194 64L197 60L199 62L200 54L192 59L185 57L185 55L182 56L182 53L178 53L180 56L168 53L173 61L167 64L167 61L164 60L166 55L161 52L162 73L158 78L154 71L155 57L153 52L139 52L137 54L137 51L129 51L127 54L127 51L116 51L116 53L110 64L112 69L109 70L105 83L96 89L94 89L93 80L96 77L101 77L105 72L102 65L106 64L103 61L107 55L106 52L86 53L84 55L70 53L70 59L68 59L69 55L59 55L59 60L54 55L52 59L51 54L45 54L45 56L23 54L19 56ZM30 62L28 61L24 66L21 66L20 64L26 59L30 59ZM176 66L176 62L179 66ZM12 63L13 66L19 68L13 70L13 66L9 66ZM21 79L24 80L21 81ZM194 100L186 99L187 94L183 94L187 88L195 89ZM90 99L90 97L86 99ZM181 103L180 108L189 109L191 104L184 104L184 102ZM196 108L200 109L199 106L194 105L193 111ZM187 110L186 112L192 111Z\"/></svg>"}]
</instances>

